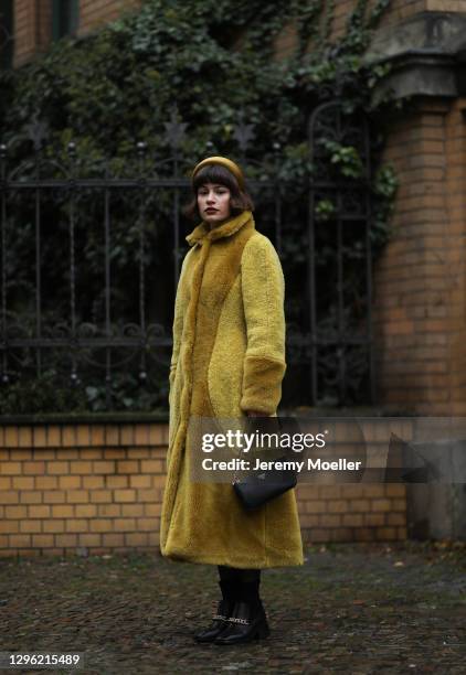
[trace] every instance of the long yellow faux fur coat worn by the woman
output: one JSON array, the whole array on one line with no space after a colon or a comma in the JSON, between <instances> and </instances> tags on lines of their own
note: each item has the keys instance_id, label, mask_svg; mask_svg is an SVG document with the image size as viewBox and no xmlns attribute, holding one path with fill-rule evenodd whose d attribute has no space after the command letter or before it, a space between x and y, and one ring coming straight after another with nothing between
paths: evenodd
<instances>
[{"instance_id":1,"label":"long yellow faux fur coat worn by the woman","mask_svg":"<svg viewBox=\"0 0 466 675\"><path fill-rule=\"evenodd\" d=\"M229 483L190 480L190 416L276 415L285 373L284 278L250 211L188 237L173 321L170 430L160 549L176 560L303 565L293 490L246 513Z\"/></svg>"}]
</instances>

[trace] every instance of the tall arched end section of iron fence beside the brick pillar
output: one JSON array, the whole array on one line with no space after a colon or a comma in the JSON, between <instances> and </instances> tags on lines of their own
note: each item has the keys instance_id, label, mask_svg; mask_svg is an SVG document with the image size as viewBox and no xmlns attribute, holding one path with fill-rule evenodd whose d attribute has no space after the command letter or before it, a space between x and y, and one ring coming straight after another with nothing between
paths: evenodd
<instances>
[{"instance_id":1,"label":"tall arched end section of iron fence beside the brick pillar","mask_svg":"<svg viewBox=\"0 0 466 675\"><path fill-rule=\"evenodd\" d=\"M354 148L361 158L363 180L336 179L320 138ZM371 149L367 118L351 120L341 103L324 103L314 110L308 127L309 151L315 165L309 185L308 301L311 346L311 400L327 396L330 403L373 403L374 352L372 336ZM331 204L330 213L326 204ZM320 210L319 205L324 206ZM318 272L333 266L333 283ZM322 257L320 257L322 256ZM324 258L324 259L322 259ZM326 288L322 288L325 280ZM324 291L324 298L320 293ZM352 396L348 389L351 386Z\"/></svg>"}]
</instances>

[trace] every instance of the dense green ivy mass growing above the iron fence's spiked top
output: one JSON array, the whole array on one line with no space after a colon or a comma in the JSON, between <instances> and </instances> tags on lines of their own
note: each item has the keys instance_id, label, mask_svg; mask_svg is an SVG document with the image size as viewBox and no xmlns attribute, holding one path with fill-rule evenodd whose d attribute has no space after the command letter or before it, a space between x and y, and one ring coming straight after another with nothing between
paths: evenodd
<instances>
[{"instance_id":1,"label":"dense green ivy mass growing above the iron fence's spiked top","mask_svg":"<svg viewBox=\"0 0 466 675\"><path fill-rule=\"evenodd\" d=\"M91 161L129 154L136 140L162 150L163 124L177 103L189 124L181 149L193 159L211 138L219 150L232 150L225 127L240 109L260 126L258 158L271 152L271 139L293 147L337 79L348 113L371 109L371 89L386 71L361 63L370 35L366 6L358 0L346 34L330 43L332 2L147 0L91 38L54 43L19 69L14 95L2 110L8 130L2 140L10 151L27 152L24 126L39 113L57 148L67 133ZM372 28L385 6L375 3ZM296 26L296 49L278 61L276 38L287 22Z\"/></svg>"}]
</instances>

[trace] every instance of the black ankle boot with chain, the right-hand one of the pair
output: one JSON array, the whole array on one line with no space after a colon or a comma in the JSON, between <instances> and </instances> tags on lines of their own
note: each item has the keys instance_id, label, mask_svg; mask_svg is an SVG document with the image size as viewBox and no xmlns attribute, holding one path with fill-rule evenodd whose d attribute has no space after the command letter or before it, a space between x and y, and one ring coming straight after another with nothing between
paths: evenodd
<instances>
[{"instance_id":1,"label":"black ankle boot with chain, the right-hand one of the pair","mask_svg":"<svg viewBox=\"0 0 466 675\"><path fill-rule=\"evenodd\" d=\"M214 644L239 644L269 635L267 617L258 597L258 581L240 585L239 601L227 625L229 628L215 638Z\"/></svg>"}]
</instances>

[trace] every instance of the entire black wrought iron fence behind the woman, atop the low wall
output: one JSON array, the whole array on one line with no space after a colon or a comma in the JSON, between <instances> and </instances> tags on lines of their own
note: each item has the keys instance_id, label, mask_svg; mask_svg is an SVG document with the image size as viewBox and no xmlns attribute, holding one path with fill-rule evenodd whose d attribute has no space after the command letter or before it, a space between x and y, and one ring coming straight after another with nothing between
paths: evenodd
<instances>
[{"instance_id":1,"label":"entire black wrought iron fence behind the woman, atop the low wall","mask_svg":"<svg viewBox=\"0 0 466 675\"><path fill-rule=\"evenodd\" d=\"M336 178L319 143L322 131L359 149L366 183ZM73 142L59 161L38 119L29 127L32 159L11 167L0 146L3 390L52 372L85 390L93 409L131 408L131 396L137 406L163 408L183 237L194 225L181 208L193 163L180 154L184 132L174 111L166 125L170 156L149 158L138 143L134 162L118 164L118 174L112 160L83 171ZM235 157L254 176L258 229L275 244L287 281L283 403L369 401L369 129L366 120L351 125L339 101L330 101L314 111L308 135L314 170L288 184L279 147L272 163L253 162L253 125L234 129Z\"/></svg>"}]
</instances>

